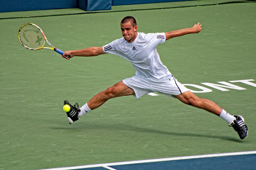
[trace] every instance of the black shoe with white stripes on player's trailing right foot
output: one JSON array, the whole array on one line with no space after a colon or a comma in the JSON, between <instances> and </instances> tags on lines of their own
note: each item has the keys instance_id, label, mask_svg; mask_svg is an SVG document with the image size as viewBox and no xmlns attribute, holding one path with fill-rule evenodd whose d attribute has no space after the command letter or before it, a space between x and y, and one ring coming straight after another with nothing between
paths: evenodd
<instances>
[{"instance_id":1,"label":"black shoe with white stripes on player's trailing right foot","mask_svg":"<svg viewBox=\"0 0 256 170\"><path fill-rule=\"evenodd\" d=\"M244 124L244 118L242 116L234 116L236 120L231 122L229 126L232 126L234 130L238 133L240 139L244 139L248 134L248 128Z\"/></svg>"}]
</instances>

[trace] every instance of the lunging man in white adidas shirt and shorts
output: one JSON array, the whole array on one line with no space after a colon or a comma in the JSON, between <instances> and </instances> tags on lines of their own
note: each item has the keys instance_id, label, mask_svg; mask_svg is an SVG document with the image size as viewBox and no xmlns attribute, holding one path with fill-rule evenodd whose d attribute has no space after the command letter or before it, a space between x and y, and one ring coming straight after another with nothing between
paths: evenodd
<instances>
[{"instance_id":1,"label":"lunging man in white adidas shirt and shorts","mask_svg":"<svg viewBox=\"0 0 256 170\"><path fill-rule=\"evenodd\" d=\"M100 54L116 54L130 61L136 69L135 76L126 78L103 92L95 95L81 108L72 106L67 100L64 105L70 105L70 111L66 112L69 123L74 123L87 112L98 108L108 99L133 95L136 99L150 93L158 92L169 97L179 99L181 102L204 109L220 116L232 126L241 139L248 133L242 116L232 116L220 106L208 99L198 98L185 86L178 82L163 65L156 51L159 43L174 37L190 33L198 33L202 25L195 24L191 28L181 29L165 33L140 33L137 32L137 23L132 16L127 16L121 21L123 38L117 39L103 47L90 47L81 50L66 51L62 57L71 59L74 56L97 56ZM65 55L69 55L67 58Z\"/></svg>"}]
</instances>

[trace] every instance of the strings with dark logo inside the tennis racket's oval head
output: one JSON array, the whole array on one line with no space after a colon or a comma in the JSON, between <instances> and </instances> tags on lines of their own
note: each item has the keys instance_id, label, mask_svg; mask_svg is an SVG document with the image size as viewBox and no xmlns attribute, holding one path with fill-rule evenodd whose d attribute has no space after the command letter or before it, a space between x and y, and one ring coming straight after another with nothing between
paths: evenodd
<instances>
[{"instance_id":1,"label":"strings with dark logo inside the tennis racket's oval head","mask_svg":"<svg viewBox=\"0 0 256 170\"><path fill-rule=\"evenodd\" d=\"M24 46L30 49L41 48L45 43L43 34L33 25L23 26L20 30L19 37Z\"/></svg>"}]
</instances>

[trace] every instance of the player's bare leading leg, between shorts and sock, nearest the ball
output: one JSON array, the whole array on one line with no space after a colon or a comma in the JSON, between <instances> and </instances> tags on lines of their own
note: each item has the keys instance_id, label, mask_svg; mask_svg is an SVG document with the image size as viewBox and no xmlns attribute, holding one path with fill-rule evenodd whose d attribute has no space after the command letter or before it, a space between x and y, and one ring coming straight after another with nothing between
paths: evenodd
<instances>
[{"instance_id":1,"label":"player's bare leading leg, between shorts and sock, nearest the ball","mask_svg":"<svg viewBox=\"0 0 256 170\"><path fill-rule=\"evenodd\" d=\"M121 97L127 95L134 95L132 88L126 86L122 81L116 83L114 86L107 88L103 92L95 95L91 100L87 102L88 107L93 110L100 107L108 99L114 97Z\"/></svg>"}]
</instances>

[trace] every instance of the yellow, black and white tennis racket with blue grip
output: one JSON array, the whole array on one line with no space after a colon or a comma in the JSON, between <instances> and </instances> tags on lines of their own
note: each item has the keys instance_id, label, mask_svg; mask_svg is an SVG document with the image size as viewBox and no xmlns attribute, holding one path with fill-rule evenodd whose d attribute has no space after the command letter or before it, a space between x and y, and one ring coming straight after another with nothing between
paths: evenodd
<instances>
[{"instance_id":1,"label":"yellow, black and white tennis racket with blue grip","mask_svg":"<svg viewBox=\"0 0 256 170\"><path fill-rule=\"evenodd\" d=\"M39 28L39 26L35 24L24 24L19 29L19 41L20 43L27 49L30 50L38 50L42 48L48 48L56 51L59 54L64 54L63 51L59 50L58 48L53 47L51 43L47 40L44 35L44 32ZM44 47L45 41L51 47ZM69 56L67 56L69 58Z\"/></svg>"}]
</instances>

